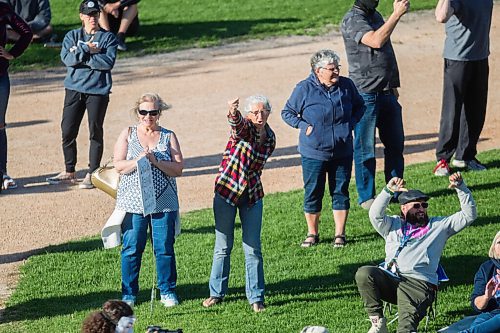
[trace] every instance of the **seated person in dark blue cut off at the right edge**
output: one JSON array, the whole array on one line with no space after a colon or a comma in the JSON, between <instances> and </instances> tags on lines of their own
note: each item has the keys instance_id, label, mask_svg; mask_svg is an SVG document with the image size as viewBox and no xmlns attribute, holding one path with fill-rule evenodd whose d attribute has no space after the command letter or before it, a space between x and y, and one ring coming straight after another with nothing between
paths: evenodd
<instances>
[{"instance_id":1,"label":"seated person in dark blue cut off at the right edge","mask_svg":"<svg viewBox=\"0 0 500 333\"><path fill-rule=\"evenodd\" d=\"M500 332L500 231L497 232L484 262L474 277L472 308L481 314L462 333Z\"/></svg>"}]
</instances>

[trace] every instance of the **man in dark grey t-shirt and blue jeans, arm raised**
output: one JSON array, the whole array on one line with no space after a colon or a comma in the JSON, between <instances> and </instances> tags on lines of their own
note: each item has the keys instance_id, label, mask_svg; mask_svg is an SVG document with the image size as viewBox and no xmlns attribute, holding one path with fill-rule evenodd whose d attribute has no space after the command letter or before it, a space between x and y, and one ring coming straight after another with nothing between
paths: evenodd
<instances>
[{"instance_id":1,"label":"man in dark grey t-shirt and blue jeans, arm raised","mask_svg":"<svg viewBox=\"0 0 500 333\"><path fill-rule=\"evenodd\" d=\"M384 22L376 11L378 0L356 0L342 20L341 31L349 63L349 77L365 101L366 111L354 127L354 167L358 203L369 209L375 197L375 128L384 145L384 173L388 182L403 177L404 131L398 103L399 70L390 36L408 11L409 0L395 0Z\"/></svg>"}]
</instances>

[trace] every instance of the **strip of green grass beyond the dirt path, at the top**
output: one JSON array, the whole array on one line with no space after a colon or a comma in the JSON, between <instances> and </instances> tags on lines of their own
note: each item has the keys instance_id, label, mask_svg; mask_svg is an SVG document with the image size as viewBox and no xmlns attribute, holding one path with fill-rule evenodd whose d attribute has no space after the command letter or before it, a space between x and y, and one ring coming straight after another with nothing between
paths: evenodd
<instances>
[{"instance_id":1,"label":"strip of green grass beyond the dirt path, at the top","mask_svg":"<svg viewBox=\"0 0 500 333\"><path fill-rule=\"evenodd\" d=\"M127 39L129 52L119 57L164 53L191 47L207 47L250 38L285 35L317 35L338 26L354 1L347 0L142 0L140 32ZM62 40L80 26L79 0L51 0L52 23ZM412 10L429 9L433 0L412 3ZM379 10L388 15L392 1ZM60 66L59 49L31 45L12 62L12 71Z\"/></svg>"}]
</instances>

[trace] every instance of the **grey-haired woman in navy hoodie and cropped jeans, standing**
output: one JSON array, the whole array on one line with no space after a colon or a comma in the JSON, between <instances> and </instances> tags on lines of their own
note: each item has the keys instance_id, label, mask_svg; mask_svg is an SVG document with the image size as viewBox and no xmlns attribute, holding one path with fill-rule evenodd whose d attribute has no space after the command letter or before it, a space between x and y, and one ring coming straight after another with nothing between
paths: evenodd
<instances>
[{"instance_id":1,"label":"grey-haired woman in navy hoodie and cropped jeans, standing","mask_svg":"<svg viewBox=\"0 0 500 333\"><path fill-rule=\"evenodd\" d=\"M300 129L298 151L302 159L308 229L302 247L319 242L318 226L327 175L335 222L333 245L346 244L352 129L363 115L364 102L354 83L340 76L339 60L332 50L313 54L311 74L297 84L281 111L288 125Z\"/></svg>"}]
</instances>

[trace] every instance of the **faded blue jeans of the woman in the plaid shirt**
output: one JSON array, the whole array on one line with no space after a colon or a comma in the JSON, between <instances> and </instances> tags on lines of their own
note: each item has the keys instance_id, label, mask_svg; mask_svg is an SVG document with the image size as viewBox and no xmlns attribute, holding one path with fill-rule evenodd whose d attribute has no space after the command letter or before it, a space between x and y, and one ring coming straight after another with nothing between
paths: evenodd
<instances>
[{"instance_id":1,"label":"faded blue jeans of the woman in the plaid shirt","mask_svg":"<svg viewBox=\"0 0 500 333\"><path fill-rule=\"evenodd\" d=\"M247 299L250 304L264 302L264 261L260 243L262 200L249 207L248 194L241 197L237 206L228 204L218 194L214 197L215 247L209 283L210 296L222 298L227 293L237 210L241 220L245 253Z\"/></svg>"}]
</instances>

